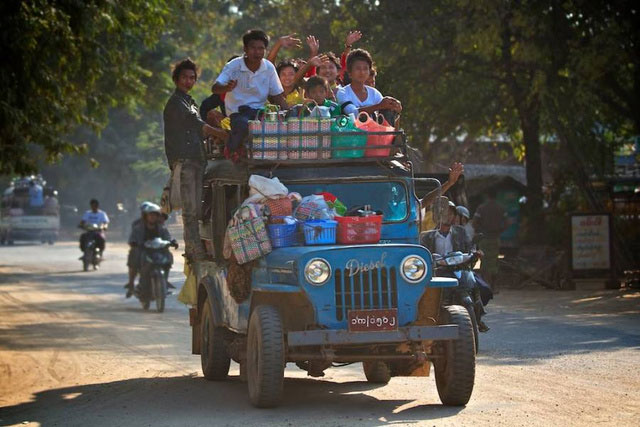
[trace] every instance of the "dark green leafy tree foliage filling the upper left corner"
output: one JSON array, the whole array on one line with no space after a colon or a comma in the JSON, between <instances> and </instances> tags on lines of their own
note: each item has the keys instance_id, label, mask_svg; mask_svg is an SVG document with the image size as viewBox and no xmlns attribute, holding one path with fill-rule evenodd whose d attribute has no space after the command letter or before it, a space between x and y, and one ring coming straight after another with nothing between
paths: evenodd
<instances>
[{"instance_id":1,"label":"dark green leafy tree foliage filling the upper left corner","mask_svg":"<svg viewBox=\"0 0 640 427\"><path fill-rule=\"evenodd\" d=\"M42 158L86 152L65 138L99 130L109 108L147 89L144 50L171 21L166 0L2 2L0 173L28 174ZM35 148L39 148L39 150Z\"/></svg>"}]
</instances>

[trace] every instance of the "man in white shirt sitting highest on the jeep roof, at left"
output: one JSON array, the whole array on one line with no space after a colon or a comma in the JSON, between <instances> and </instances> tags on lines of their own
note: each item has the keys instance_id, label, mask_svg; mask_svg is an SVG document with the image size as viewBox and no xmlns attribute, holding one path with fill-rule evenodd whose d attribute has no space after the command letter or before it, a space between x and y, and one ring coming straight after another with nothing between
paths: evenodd
<instances>
[{"instance_id":1,"label":"man in white shirt sitting highest on the jeep roof, at left","mask_svg":"<svg viewBox=\"0 0 640 427\"><path fill-rule=\"evenodd\" d=\"M214 94L226 93L224 105L231 119L231 135L227 147L238 150L249 133L249 120L271 97L281 109L288 108L284 89L273 64L264 59L269 36L261 30L250 30L242 36L244 56L227 63L211 88Z\"/></svg>"}]
</instances>

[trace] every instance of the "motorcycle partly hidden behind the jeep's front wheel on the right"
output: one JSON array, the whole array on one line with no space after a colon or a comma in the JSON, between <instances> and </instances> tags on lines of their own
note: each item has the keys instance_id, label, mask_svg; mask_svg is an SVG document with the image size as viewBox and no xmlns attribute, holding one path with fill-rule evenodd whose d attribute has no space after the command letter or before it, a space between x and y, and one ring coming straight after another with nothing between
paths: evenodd
<instances>
[{"instance_id":1,"label":"motorcycle partly hidden behind the jeep's front wheel on the right","mask_svg":"<svg viewBox=\"0 0 640 427\"><path fill-rule=\"evenodd\" d=\"M444 305L461 305L469 312L473 325L473 339L478 352L478 320L480 318L476 310L478 298L478 286L473 275L473 267L478 261L477 252L463 253L460 251L450 252L444 256L433 255L435 272L438 276L455 277L458 279L458 286L446 288L444 290L442 302Z\"/></svg>"}]
</instances>

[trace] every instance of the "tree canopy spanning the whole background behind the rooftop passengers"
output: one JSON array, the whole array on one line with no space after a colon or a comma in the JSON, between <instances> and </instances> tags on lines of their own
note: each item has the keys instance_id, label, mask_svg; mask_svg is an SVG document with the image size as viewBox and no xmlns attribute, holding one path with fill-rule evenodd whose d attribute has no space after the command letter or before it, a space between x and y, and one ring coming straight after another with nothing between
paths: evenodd
<instances>
[{"instance_id":1,"label":"tree canopy spanning the whole background behind the rooftop passengers","mask_svg":"<svg viewBox=\"0 0 640 427\"><path fill-rule=\"evenodd\" d=\"M425 159L446 163L451 146L505 138L526 164L536 217L546 142L558 147L552 166L580 181L606 172L603 156L640 134L629 0L34 0L0 11L11 58L0 69L2 174L87 153L112 174L124 165L132 180L160 179L169 65L185 56L201 65L201 101L255 27L313 34L336 53L361 30L358 47L372 53L383 94L403 102L403 127Z\"/></svg>"}]
</instances>

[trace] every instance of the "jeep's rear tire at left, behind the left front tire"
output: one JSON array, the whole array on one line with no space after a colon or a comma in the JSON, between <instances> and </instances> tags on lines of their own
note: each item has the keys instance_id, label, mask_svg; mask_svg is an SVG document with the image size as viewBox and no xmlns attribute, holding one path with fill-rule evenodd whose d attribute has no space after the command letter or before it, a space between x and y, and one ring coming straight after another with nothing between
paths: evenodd
<instances>
[{"instance_id":1,"label":"jeep's rear tire at left, behind the left front tire","mask_svg":"<svg viewBox=\"0 0 640 427\"><path fill-rule=\"evenodd\" d=\"M231 358L224 343L224 328L215 326L209 298L204 301L200 319L200 363L209 381L221 381L229 375Z\"/></svg>"}]
</instances>

